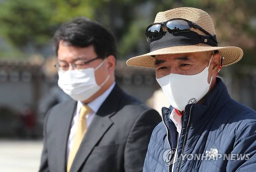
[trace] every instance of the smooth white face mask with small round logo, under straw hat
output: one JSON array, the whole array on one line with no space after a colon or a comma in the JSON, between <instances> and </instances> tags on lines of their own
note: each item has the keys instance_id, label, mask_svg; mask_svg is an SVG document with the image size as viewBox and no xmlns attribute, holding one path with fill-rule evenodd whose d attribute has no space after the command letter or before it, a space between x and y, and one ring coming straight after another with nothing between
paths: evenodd
<instances>
[{"instance_id":1,"label":"smooth white face mask with small round logo, under straw hat","mask_svg":"<svg viewBox=\"0 0 256 172\"><path fill-rule=\"evenodd\" d=\"M212 57L210 62L211 60ZM172 107L183 111L186 105L198 102L207 94L210 88L210 84L207 81L209 65L199 74L180 75L171 73L156 79ZM211 82L212 77L210 83Z\"/></svg>"}]
</instances>

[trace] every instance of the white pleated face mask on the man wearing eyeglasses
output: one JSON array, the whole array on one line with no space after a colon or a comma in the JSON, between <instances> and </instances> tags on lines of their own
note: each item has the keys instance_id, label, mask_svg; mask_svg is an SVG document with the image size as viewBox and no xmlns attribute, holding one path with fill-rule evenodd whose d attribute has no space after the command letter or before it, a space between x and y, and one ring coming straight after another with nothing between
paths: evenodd
<instances>
[{"instance_id":1,"label":"white pleated face mask on the man wearing eyeglasses","mask_svg":"<svg viewBox=\"0 0 256 172\"><path fill-rule=\"evenodd\" d=\"M109 75L99 86L96 83L95 71L98 70L105 60L98 67L81 70L59 71L59 87L71 98L77 101L87 100L93 96L109 80Z\"/></svg>"}]
</instances>

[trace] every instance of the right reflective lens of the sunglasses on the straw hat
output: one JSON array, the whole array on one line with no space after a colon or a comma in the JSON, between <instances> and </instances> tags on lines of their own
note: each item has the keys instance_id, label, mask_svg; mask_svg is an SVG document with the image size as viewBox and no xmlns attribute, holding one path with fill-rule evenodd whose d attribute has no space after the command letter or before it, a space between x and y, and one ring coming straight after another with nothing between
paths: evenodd
<instances>
[{"instance_id":1,"label":"right reflective lens of the sunglasses on the straw hat","mask_svg":"<svg viewBox=\"0 0 256 172\"><path fill-rule=\"evenodd\" d=\"M166 23L167 31L171 34L179 32L188 32L191 27L188 25L187 21L184 20L172 20Z\"/></svg>"}]
</instances>

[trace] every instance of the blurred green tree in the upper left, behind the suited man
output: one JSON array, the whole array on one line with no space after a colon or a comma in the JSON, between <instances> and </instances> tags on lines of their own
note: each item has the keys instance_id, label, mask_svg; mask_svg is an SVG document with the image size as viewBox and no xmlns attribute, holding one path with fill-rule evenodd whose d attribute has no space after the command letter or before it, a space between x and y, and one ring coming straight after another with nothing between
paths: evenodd
<instances>
[{"instance_id":1,"label":"blurred green tree in the upper left, behind the suited man","mask_svg":"<svg viewBox=\"0 0 256 172\"><path fill-rule=\"evenodd\" d=\"M56 28L75 16L92 17L91 7L80 0L8 0L0 5L0 35L23 50L48 43Z\"/></svg>"}]
</instances>

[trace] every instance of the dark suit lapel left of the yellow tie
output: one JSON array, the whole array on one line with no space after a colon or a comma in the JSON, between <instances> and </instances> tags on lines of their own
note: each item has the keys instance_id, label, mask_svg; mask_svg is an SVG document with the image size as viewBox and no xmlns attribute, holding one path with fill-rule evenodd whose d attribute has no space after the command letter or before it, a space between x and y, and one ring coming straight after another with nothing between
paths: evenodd
<instances>
[{"instance_id":1,"label":"dark suit lapel left of the yellow tie","mask_svg":"<svg viewBox=\"0 0 256 172\"><path fill-rule=\"evenodd\" d=\"M75 108L77 105L77 101L71 100L68 101L66 105L63 106L63 110L60 112L61 117L56 122L57 126L57 135L56 135L56 148L57 148L57 159L58 162L58 171L65 172L67 170L66 168L66 157L67 157L67 143L68 143L68 136L70 133L70 126L73 119L73 114L75 112Z\"/></svg>"}]
</instances>

